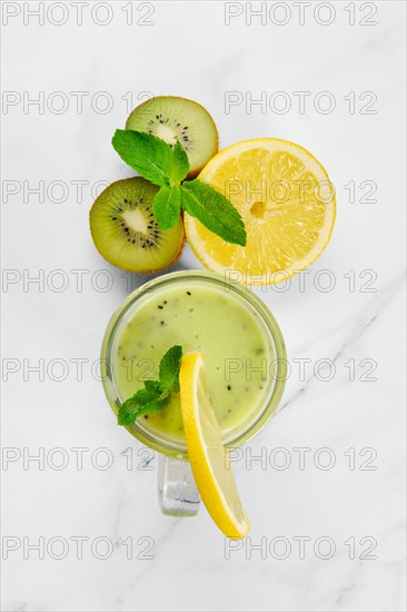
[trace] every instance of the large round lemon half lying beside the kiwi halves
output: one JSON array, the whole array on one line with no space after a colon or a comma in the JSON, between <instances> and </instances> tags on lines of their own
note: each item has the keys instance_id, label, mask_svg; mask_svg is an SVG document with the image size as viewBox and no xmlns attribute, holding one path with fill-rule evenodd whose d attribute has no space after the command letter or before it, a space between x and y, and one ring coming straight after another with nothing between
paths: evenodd
<instances>
[{"instance_id":1,"label":"large round lemon half lying beside the kiwi halves","mask_svg":"<svg viewBox=\"0 0 407 612\"><path fill-rule=\"evenodd\" d=\"M306 149L277 138L227 147L200 172L240 213L245 247L226 243L189 215L190 246L210 270L237 270L247 284L274 284L319 257L332 233L335 189L321 164Z\"/></svg>"}]
</instances>

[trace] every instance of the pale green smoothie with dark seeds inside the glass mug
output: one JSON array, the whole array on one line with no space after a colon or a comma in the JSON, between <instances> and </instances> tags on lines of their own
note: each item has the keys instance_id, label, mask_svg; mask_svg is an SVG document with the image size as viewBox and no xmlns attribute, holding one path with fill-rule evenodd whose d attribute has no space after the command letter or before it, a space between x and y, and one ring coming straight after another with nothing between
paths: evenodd
<instances>
[{"instance_id":1,"label":"pale green smoothie with dark seeds inside the glass mug","mask_svg":"<svg viewBox=\"0 0 407 612\"><path fill-rule=\"evenodd\" d=\"M130 309L113 346L115 383L121 402L158 377L171 346L204 356L208 387L224 436L247 427L264 408L274 358L256 310L222 287L180 280L147 294ZM179 395L160 413L141 417L155 435L183 440Z\"/></svg>"}]
</instances>

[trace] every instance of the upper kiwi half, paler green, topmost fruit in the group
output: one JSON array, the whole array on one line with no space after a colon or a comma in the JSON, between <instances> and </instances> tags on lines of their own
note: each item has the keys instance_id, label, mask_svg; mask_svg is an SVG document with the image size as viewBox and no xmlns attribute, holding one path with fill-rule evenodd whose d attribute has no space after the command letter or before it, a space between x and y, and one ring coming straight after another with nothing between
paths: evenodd
<instances>
[{"instance_id":1,"label":"upper kiwi half, paler green, topmost fruit in the group","mask_svg":"<svg viewBox=\"0 0 407 612\"><path fill-rule=\"evenodd\" d=\"M158 96L135 110L126 129L147 131L173 145L176 139L189 159L188 177L197 176L218 150L218 130L209 112L187 98Z\"/></svg>"}]
</instances>

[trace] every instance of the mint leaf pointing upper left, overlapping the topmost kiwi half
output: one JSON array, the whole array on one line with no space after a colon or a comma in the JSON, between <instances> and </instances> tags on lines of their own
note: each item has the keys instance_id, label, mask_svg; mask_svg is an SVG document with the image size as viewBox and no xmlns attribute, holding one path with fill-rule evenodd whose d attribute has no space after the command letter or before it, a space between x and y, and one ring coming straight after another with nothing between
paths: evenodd
<instances>
[{"instance_id":1,"label":"mint leaf pointing upper left, overlapping the topmost kiwi half","mask_svg":"<svg viewBox=\"0 0 407 612\"><path fill-rule=\"evenodd\" d=\"M173 172L172 150L161 138L143 131L117 129L111 144L121 159L159 187L169 185Z\"/></svg>"}]
</instances>

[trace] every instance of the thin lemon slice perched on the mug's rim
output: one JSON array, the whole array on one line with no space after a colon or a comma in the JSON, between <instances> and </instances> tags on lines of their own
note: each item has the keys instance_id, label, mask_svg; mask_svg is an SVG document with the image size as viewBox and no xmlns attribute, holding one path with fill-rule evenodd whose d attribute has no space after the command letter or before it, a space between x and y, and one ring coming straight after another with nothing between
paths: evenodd
<instances>
[{"instance_id":1,"label":"thin lemon slice perched on the mug's rim","mask_svg":"<svg viewBox=\"0 0 407 612\"><path fill-rule=\"evenodd\" d=\"M179 384L188 458L202 502L225 535L245 537L250 523L229 467L200 353L182 357Z\"/></svg>"}]
</instances>

